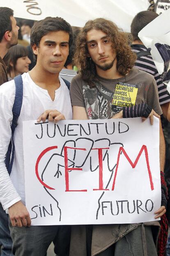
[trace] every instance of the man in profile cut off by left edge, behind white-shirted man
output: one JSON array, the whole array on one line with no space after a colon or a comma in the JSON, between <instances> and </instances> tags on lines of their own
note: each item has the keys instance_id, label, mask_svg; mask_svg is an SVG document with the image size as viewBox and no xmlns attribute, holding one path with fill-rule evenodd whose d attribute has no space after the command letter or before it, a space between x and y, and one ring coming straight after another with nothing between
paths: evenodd
<instances>
[{"instance_id":1,"label":"man in profile cut off by left edge, behind white-shirted man","mask_svg":"<svg viewBox=\"0 0 170 256\"><path fill-rule=\"evenodd\" d=\"M18 29L14 12L7 7L0 7L0 85L8 81L6 65L3 61L10 47L18 42ZM0 145L3 142L0 141ZM0 245L1 256L12 256L12 240L8 226L8 215L0 203Z\"/></svg>"}]
</instances>

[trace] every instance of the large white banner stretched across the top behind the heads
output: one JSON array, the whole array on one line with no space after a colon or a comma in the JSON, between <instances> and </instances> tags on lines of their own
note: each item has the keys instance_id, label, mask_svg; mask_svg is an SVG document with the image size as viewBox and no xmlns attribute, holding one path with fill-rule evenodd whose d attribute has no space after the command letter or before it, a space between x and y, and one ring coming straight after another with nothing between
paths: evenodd
<instances>
[{"instance_id":1,"label":"large white banner stretched across the top behind the heads","mask_svg":"<svg viewBox=\"0 0 170 256\"><path fill-rule=\"evenodd\" d=\"M0 0L1 7L14 10L14 16L40 20L59 16L72 26L84 26L89 19L110 19L130 32L133 17L149 7L148 0Z\"/></svg>"}]
</instances>

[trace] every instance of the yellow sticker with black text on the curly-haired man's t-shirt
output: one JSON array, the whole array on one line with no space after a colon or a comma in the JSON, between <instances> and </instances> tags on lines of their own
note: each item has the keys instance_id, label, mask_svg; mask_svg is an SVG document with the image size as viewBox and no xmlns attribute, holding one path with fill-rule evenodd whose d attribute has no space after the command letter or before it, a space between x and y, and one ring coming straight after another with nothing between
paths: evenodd
<instances>
[{"instance_id":1,"label":"yellow sticker with black text on the curly-haired man's t-shirt","mask_svg":"<svg viewBox=\"0 0 170 256\"><path fill-rule=\"evenodd\" d=\"M138 93L137 85L125 84L119 82L115 87L112 100L113 112L119 112L123 107L132 107L135 105Z\"/></svg>"}]
</instances>

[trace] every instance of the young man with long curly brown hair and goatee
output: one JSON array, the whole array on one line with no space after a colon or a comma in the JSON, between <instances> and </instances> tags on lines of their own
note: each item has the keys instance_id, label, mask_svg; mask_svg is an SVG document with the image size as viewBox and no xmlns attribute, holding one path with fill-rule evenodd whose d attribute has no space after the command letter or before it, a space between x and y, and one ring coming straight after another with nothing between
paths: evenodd
<instances>
[{"instance_id":1,"label":"young man with long curly brown hair and goatee","mask_svg":"<svg viewBox=\"0 0 170 256\"><path fill-rule=\"evenodd\" d=\"M113 22L88 21L78 35L74 60L80 70L71 82L74 119L121 118L123 108L143 103L162 114L154 77L133 68L135 54ZM162 146L162 130L160 135ZM164 155L160 159L163 168ZM155 219L164 213L162 206ZM70 256L156 256L158 233L158 221L73 226Z\"/></svg>"}]
</instances>

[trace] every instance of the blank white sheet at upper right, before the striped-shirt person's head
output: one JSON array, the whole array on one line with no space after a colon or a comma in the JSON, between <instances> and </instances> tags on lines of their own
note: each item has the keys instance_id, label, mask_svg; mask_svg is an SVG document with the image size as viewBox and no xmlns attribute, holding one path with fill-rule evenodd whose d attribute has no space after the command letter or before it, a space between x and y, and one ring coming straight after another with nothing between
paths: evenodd
<instances>
[{"instance_id":1,"label":"blank white sheet at upper right, before the striped-shirt person's head","mask_svg":"<svg viewBox=\"0 0 170 256\"><path fill-rule=\"evenodd\" d=\"M170 9L163 12L147 26L142 28L138 37L147 48L151 48L151 55L159 74L164 71L164 61L159 53L160 44L166 48L170 46ZM170 56L169 56L170 58Z\"/></svg>"}]
</instances>

